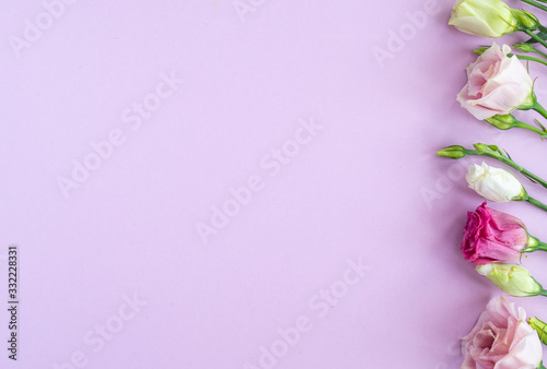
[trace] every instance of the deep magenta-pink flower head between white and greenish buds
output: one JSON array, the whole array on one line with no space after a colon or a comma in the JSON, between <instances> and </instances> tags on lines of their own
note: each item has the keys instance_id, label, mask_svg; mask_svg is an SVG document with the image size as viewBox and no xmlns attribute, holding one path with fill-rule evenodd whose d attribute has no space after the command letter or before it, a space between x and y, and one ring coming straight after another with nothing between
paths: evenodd
<instances>
[{"instance_id":1,"label":"deep magenta-pink flower head between white and greenish buds","mask_svg":"<svg viewBox=\"0 0 547 369\"><path fill-rule=\"evenodd\" d=\"M482 203L475 213L467 213L462 253L475 265L517 259L528 245L522 221L494 211Z\"/></svg>"}]
</instances>

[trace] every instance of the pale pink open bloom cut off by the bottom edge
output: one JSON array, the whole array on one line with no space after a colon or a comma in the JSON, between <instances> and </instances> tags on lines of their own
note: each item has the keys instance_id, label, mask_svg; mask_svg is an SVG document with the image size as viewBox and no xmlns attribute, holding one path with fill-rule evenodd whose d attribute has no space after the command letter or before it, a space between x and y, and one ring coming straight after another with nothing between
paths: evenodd
<instances>
[{"instance_id":1,"label":"pale pink open bloom cut off by the bottom edge","mask_svg":"<svg viewBox=\"0 0 547 369\"><path fill-rule=\"evenodd\" d=\"M503 296L488 302L477 324L462 338L462 369L535 369L543 357L542 342L523 308Z\"/></svg>"}]
</instances>

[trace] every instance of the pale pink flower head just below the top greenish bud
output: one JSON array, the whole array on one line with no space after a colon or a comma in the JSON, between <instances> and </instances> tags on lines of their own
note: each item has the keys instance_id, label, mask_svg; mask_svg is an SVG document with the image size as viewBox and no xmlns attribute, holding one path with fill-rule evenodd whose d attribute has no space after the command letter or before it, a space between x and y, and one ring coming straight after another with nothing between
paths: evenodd
<instances>
[{"instance_id":1,"label":"pale pink flower head just below the top greenish bud","mask_svg":"<svg viewBox=\"0 0 547 369\"><path fill-rule=\"evenodd\" d=\"M515 56L507 56L510 51L493 44L467 67L468 82L457 100L477 119L509 114L532 95L532 79Z\"/></svg>"}]
</instances>

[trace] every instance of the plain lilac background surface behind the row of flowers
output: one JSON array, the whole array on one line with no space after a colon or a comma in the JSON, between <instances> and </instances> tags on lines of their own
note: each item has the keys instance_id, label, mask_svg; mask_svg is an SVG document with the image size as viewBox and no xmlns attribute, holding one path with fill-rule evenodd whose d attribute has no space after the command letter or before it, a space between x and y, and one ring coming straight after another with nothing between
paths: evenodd
<instances>
[{"instance_id":1,"label":"plain lilac background surface behind the row of flowers","mask_svg":"<svg viewBox=\"0 0 547 369\"><path fill-rule=\"evenodd\" d=\"M278 343L270 368L459 367L458 338L499 290L458 251L481 199L434 152L497 143L547 176L545 143L455 102L470 50L491 40L446 26L452 1L249 1L243 17L231 1L78 1L19 52L10 40L45 8L3 1L0 275L19 245L21 310L19 360L0 344L2 368L260 368L260 347L299 319L309 331ZM379 63L392 32L407 39ZM162 73L177 90L124 121ZM263 158L302 120L322 129L270 176ZM123 144L65 197L58 178L113 130ZM196 224L249 176L264 189L205 243ZM547 239L540 211L492 207ZM345 291L359 259L368 271ZM540 281L546 263L524 260ZM330 288L344 296L322 317ZM133 296L146 306L131 313ZM517 302L547 319L545 298ZM105 324L116 332L97 338Z\"/></svg>"}]
</instances>

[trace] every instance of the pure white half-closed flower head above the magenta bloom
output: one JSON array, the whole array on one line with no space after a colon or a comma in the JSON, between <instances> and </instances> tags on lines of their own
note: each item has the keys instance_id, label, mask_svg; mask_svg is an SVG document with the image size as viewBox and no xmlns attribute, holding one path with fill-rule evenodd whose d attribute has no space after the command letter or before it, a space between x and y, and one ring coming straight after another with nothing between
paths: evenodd
<instances>
[{"instance_id":1,"label":"pure white half-closed flower head above the magenta bloom","mask_svg":"<svg viewBox=\"0 0 547 369\"><path fill-rule=\"evenodd\" d=\"M525 194L519 179L511 172L488 166L472 165L465 176L469 188L482 198L496 202L509 202Z\"/></svg>"}]
</instances>

